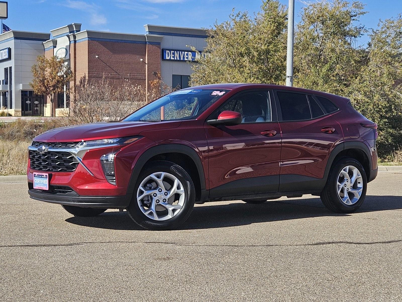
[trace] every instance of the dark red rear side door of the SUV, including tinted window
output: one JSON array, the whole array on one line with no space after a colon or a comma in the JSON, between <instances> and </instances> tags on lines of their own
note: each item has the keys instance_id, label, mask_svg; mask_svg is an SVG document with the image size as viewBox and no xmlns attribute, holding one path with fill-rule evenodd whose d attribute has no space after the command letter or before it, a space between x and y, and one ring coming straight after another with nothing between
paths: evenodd
<instances>
[{"instance_id":1,"label":"dark red rear side door of the SUV, including tinted window","mask_svg":"<svg viewBox=\"0 0 402 302\"><path fill-rule=\"evenodd\" d=\"M274 95L282 131L279 192L322 188L330 151L343 141L336 121L340 110L327 112L312 94L274 90Z\"/></svg>"}]
</instances>

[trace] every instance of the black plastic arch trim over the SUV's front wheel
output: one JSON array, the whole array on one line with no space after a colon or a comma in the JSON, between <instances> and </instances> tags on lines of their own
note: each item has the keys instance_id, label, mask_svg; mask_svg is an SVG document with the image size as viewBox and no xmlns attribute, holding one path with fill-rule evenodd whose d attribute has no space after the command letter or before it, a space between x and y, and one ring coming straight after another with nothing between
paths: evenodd
<instances>
[{"instance_id":1,"label":"black plastic arch trim over the SUV's front wheel","mask_svg":"<svg viewBox=\"0 0 402 302\"><path fill-rule=\"evenodd\" d=\"M140 155L139 159L134 165L133 172L131 173L130 182L127 187L127 194L132 194L134 192L135 183L137 182L138 175L141 172L142 168L144 168L144 165L147 163L147 161L150 160L152 157L163 153L182 153L189 156L194 161L197 167L201 190L205 190L205 175L203 164L201 163L201 158L197 154L197 151L183 144L162 144L151 147L147 149L144 153L142 153L142 155Z\"/></svg>"}]
</instances>

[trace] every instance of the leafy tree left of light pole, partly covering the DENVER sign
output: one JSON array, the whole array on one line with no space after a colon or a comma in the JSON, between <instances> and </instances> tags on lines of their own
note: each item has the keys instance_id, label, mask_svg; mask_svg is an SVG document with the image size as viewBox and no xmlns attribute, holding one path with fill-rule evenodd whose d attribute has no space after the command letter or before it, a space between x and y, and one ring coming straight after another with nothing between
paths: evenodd
<instances>
[{"instance_id":1,"label":"leafy tree left of light pole, partly covering the DENVER sign","mask_svg":"<svg viewBox=\"0 0 402 302\"><path fill-rule=\"evenodd\" d=\"M229 18L208 30L205 56L193 65L191 85L285 83L286 6L265 0L253 17L233 10Z\"/></svg>"}]
</instances>

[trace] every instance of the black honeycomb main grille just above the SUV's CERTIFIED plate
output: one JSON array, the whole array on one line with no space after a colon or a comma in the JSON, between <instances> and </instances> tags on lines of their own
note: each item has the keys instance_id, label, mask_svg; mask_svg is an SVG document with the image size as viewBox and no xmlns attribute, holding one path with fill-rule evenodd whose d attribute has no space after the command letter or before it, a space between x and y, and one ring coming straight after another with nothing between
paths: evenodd
<instances>
[{"instance_id":1,"label":"black honeycomb main grille just above the SUV's CERTIFIED plate","mask_svg":"<svg viewBox=\"0 0 402 302\"><path fill-rule=\"evenodd\" d=\"M78 160L69 152L49 151L43 154L29 151L31 169L49 172L72 172L78 167Z\"/></svg>"}]
</instances>

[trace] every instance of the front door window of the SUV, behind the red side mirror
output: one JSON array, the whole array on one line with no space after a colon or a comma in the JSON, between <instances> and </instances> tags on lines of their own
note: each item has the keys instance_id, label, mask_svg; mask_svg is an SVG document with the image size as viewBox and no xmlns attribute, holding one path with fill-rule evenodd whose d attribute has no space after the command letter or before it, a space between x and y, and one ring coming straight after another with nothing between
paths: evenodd
<instances>
[{"instance_id":1,"label":"front door window of the SUV, behind the red side mirror","mask_svg":"<svg viewBox=\"0 0 402 302\"><path fill-rule=\"evenodd\" d=\"M215 112L214 118L226 110L239 112L243 116L242 123L272 121L268 94L264 91L250 91L234 96Z\"/></svg>"}]
</instances>

